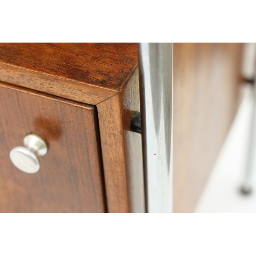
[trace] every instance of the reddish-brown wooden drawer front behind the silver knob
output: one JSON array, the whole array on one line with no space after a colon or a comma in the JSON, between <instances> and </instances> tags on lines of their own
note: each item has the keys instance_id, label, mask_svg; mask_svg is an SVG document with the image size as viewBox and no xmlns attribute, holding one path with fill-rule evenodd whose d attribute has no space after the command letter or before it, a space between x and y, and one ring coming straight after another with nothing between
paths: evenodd
<instances>
[{"instance_id":1,"label":"reddish-brown wooden drawer front behind the silver knob","mask_svg":"<svg viewBox=\"0 0 256 256\"><path fill-rule=\"evenodd\" d=\"M0 83L0 212L106 212L96 107ZM48 144L26 173L9 153L35 133Z\"/></svg>"}]
</instances>

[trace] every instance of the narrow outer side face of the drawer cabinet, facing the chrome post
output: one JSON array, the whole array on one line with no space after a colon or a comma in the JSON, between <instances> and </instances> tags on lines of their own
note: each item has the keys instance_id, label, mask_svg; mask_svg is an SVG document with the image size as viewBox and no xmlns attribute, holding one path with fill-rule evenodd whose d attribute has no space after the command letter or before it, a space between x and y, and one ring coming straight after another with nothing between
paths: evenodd
<instances>
[{"instance_id":1,"label":"narrow outer side face of the drawer cabinet, facing the chrome post","mask_svg":"<svg viewBox=\"0 0 256 256\"><path fill-rule=\"evenodd\" d=\"M121 91L124 128L125 169L131 212L145 212L144 174L141 134L131 131L132 117L140 112L139 68L137 67Z\"/></svg>"}]
</instances>

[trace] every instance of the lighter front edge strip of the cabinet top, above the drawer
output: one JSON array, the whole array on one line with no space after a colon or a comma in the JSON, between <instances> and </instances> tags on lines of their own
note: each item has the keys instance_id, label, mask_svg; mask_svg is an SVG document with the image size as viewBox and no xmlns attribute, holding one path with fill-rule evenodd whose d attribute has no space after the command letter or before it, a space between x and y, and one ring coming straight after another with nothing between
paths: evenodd
<instances>
[{"instance_id":1,"label":"lighter front edge strip of the cabinet top, above the drawer","mask_svg":"<svg viewBox=\"0 0 256 256\"><path fill-rule=\"evenodd\" d=\"M84 84L60 76L52 76L1 62L0 81L92 105L98 104L118 93L111 89Z\"/></svg>"}]
</instances>

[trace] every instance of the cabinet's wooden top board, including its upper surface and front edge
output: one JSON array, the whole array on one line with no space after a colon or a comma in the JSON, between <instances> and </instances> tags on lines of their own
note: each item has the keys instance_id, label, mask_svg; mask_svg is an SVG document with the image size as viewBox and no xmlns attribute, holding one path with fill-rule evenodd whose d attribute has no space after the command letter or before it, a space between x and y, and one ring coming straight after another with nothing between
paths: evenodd
<instances>
[{"instance_id":1,"label":"cabinet's wooden top board, including its upper surface and front edge","mask_svg":"<svg viewBox=\"0 0 256 256\"><path fill-rule=\"evenodd\" d=\"M135 43L0 43L0 80L97 104L138 64Z\"/></svg>"}]
</instances>

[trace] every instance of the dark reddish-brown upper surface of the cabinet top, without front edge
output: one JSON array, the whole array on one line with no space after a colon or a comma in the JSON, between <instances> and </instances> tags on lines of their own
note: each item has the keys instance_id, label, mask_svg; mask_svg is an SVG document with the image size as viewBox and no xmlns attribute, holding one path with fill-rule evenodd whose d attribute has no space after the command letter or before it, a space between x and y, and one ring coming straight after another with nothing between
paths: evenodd
<instances>
[{"instance_id":1,"label":"dark reddish-brown upper surface of the cabinet top, without front edge","mask_svg":"<svg viewBox=\"0 0 256 256\"><path fill-rule=\"evenodd\" d=\"M114 90L137 58L135 43L0 43L0 62Z\"/></svg>"}]
</instances>

